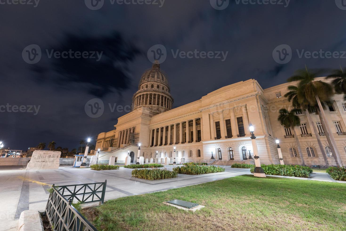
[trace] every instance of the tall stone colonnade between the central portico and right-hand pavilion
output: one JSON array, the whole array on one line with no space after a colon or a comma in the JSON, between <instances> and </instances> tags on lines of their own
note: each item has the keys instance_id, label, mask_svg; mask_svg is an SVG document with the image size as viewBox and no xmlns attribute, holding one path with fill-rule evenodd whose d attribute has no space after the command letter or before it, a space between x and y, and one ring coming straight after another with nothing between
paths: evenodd
<instances>
[{"instance_id":1,"label":"tall stone colonnade between the central portico and right-hand pavilion","mask_svg":"<svg viewBox=\"0 0 346 231\"><path fill-rule=\"evenodd\" d=\"M197 129L196 129L196 118L192 119L193 121L193 125L192 125L192 129L193 129L193 140L192 142L196 142L197 140ZM177 137L176 137L176 133L177 133L177 124L178 123L174 123L173 124L173 144L177 144ZM168 125L168 138L167 138L167 144L165 143L166 141L166 127L167 126L164 126L164 127L159 127L158 128L158 142L157 142L157 145L167 145L167 144L170 144L171 143L171 129L172 129L172 124ZM161 139L161 131L163 129L163 136L162 136L162 139ZM154 129L154 146L156 146L156 131L157 131L157 128ZM201 119L201 135L202 135L202 119ZM189 132L189 120L186 121L186 142L189 142L190 140L190 132ZM150 130L150 140L149 140L149 146L152 145L153 143L153 129ZM192 138L192 137L191 137ZM201 139L203 139L201 137ZM179 143L181 144L183 141L183 122L180 122L179 123Z\"/></svg>"}]
</instances>

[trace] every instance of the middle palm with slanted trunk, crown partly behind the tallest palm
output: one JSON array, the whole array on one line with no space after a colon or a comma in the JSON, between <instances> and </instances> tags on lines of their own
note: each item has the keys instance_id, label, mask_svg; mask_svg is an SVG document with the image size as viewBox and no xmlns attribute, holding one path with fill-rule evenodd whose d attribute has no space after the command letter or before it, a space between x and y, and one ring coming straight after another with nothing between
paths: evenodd
<instances>
[{"instance_id":1,"label":"middle palm with slanted trunk, crown partly behind the tallest palm","mask_svg":"<svg viewBox=\"0 0 346 231\"><path fill-rule=\"evenodd\" d=\"M304 110L304 112L305 112L305 114L306 114L306 116L308 118L309 123L313 127L313 132L316 135L317 143L318 143L318 146L320 147L320 150L321 150L323 159L325 160L326 166L327 166L327 168L329 168L328 158L327 158L326 152L325 152L325 150L323 148L320 135L319 135L319 133L317 131L315 123L312 121L312 118L311 118L309 110L308 110L310 105L307 103L307 100L303 100L303 104L299 104L299 102L298 102L298 92L300 91L299 87L297 87L297 86L288 86L288 89L290 91L287 92L284 96L287 98L287 100L289 102L292 101L292 106L293 107L299 107L299 108Z\"/></svg>"}]
</instances>

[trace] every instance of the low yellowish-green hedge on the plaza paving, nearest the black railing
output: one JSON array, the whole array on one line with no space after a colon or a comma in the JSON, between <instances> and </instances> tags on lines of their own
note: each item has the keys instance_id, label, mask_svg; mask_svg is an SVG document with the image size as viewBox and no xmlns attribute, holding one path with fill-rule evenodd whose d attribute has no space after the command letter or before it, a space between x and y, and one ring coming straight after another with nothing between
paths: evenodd
<instances>
[{"instance_id":1,"label":"low yellowish-green hedge on the plaza paving, nearest the black railing","mask_svg":"<svg viewBox=\"0 0 346 231\"><path fill-rule=\"evenodd\" d=\"M146 180L161 180L177 177L176 172L165 169L134 169L131 172L132 177Z\"/></svg>"}]
</instances>

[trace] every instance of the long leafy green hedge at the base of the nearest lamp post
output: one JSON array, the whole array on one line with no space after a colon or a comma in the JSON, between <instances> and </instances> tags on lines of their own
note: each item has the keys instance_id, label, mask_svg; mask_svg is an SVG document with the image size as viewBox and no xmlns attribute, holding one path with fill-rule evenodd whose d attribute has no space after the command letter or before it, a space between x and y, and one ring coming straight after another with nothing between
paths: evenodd
<instances>
[{"instance_id":1,"label":"long leafy green hedge at the base of the nearest lamp post","mask_svg":"<svg viewBox=\"0 0 346 231\"><path fill-rule=\"evenodd\" d=\"M305 177L309 178L312 169L300 165L261 165L266 175ZM251 173L254 173L255 167L251 167Z\"/></svg>"}]
</instances>

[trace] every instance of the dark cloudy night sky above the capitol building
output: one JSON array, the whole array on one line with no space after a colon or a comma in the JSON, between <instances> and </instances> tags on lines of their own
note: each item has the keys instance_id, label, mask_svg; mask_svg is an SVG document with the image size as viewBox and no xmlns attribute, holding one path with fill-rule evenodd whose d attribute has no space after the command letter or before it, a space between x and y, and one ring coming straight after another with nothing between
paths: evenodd
<instances>
[{"instance_id":1,"label":"dark cloudy night sky above the capitol building","mask_svg":"<svg viewBox=\"0 0 346 231\"><path fill-rule=\"evenodd\" d=\"M15 5L18 0L0 0L0 141L4 148L26 150L54 140L56 147L71 150L82 139L112 130L117 118L127 112L112 112L109 104L131 105L140 76L152 65L148 50L156 44L167 50L161 69L169 77L173 107L251 78L263 88L272 87L304 64L345 66L345 0L272 1L282 4L227 0L224 5L218 0L221 8L229 3L223 10L215 9L216 0L147 0L152 4L143 5L134 3L144 0L99 1L41 0L37 4L30 0ZM269 4L259 4L263 2ZM291 56L285 64L273 58L281 44L292 49L279 47L281 55ZM77 53L72 58L52 54L70 50L86 52L85 58L76 58ZM225 60L221 54L220 59L174 57L177 51L195 50L228 53ZM320 50L342 57L327 58L320 52L299 57L302 51ZM102 52L100 59L92 55L96 51ZM94 98L104 103L104 112L97 118L85 112L85 104Z\"/></svg>"}]
</instances>

